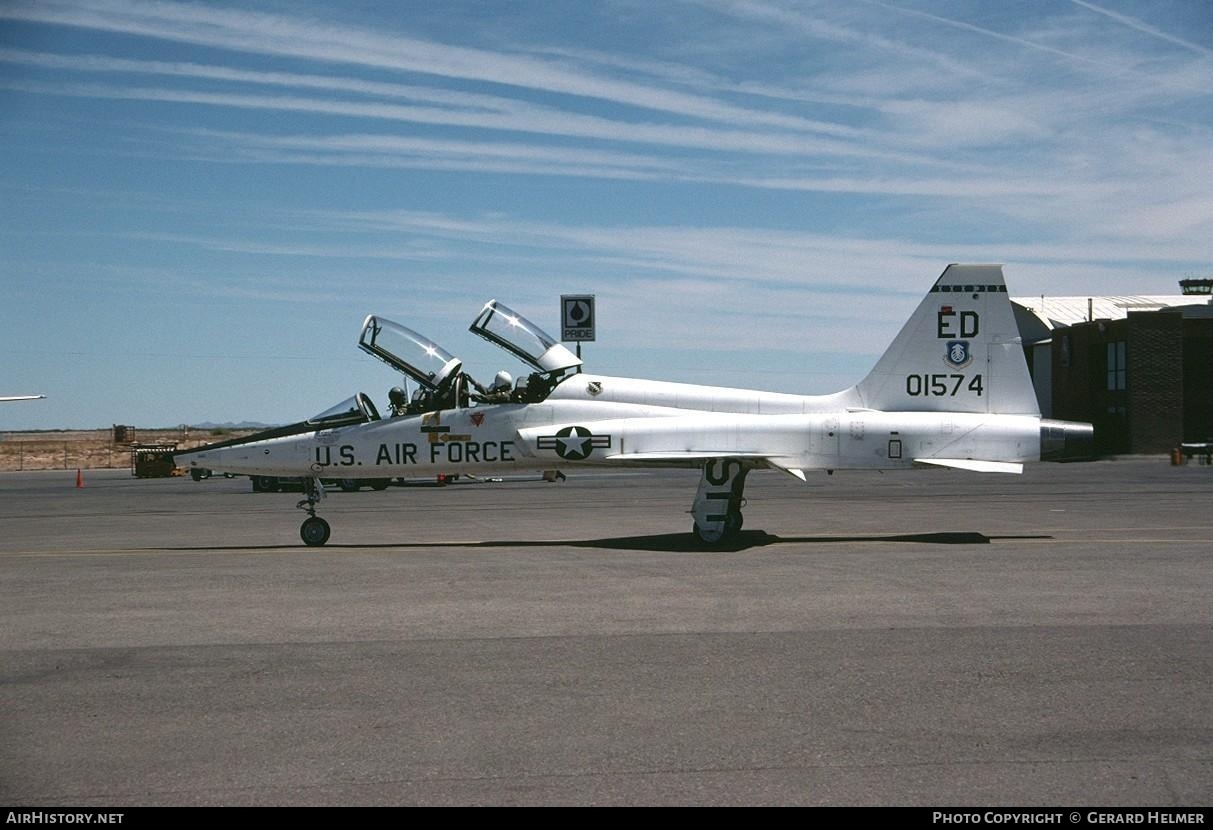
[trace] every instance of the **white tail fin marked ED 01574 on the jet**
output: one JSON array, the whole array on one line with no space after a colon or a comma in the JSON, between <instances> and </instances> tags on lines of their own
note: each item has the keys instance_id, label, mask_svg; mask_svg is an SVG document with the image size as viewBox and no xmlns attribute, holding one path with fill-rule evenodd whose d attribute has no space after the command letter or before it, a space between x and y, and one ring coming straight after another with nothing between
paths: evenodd
<instances>
[{"instance_id":1,"label":"white tail fin marked ED 01574 on the jet","mask_svg":"<svg viewBox=\"0 0 1213 830\"><path fill-rule=\"evenodd\" d=\"M1040 415L1002 266L947 266L855 392L885 411Z\"/></svg>"}]
</instances>

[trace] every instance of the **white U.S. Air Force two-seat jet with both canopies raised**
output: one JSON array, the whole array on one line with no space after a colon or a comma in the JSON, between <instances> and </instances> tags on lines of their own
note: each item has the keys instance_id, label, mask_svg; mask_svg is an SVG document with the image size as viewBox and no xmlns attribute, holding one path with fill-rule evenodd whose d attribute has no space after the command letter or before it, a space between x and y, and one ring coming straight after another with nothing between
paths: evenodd
<instances>
[{"instance_id":1,"label":"white U.S. Air Force two-seat jet with both canopies raised","mask_svg":"<svg viewBox=\"0 0 1213 830\"><path fill-rule=\"evenodd\" d=\"M485 388L435 343L368 317L360 348L417 382L411 403L385 419L358 394L297 425L178 453L177 462L303 477L308 545L330 533L315 515L320 478L696 467L691 530L718 542L741 529L753 470L801 481L810 470L1019 473L1025 462L1092 448L1089 423L1041 417L1001 266L949 266L867 377L826 396L586 374L580 358L496 301L471 330L534 373Z\"/></svg>"}]
</instances>

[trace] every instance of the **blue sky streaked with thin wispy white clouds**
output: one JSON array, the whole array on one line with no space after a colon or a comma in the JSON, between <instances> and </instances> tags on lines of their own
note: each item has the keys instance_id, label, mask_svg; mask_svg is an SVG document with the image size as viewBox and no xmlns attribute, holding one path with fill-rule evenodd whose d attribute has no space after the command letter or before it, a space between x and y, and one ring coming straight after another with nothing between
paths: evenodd
<instances>
[{"instance_id":1,"label":"blue sky streaked with thin wispy white clouds","mask_svg":"<svg viewBox=\"0 0 1213 830\"><path fill-rule=\"evenodd\" d=\"M1213 6L0 0L0 430L314 414L489 379L497 297L587 368L858 381L949 262L1174 294L1213 240Z\"/></svg>"}]
</instances>

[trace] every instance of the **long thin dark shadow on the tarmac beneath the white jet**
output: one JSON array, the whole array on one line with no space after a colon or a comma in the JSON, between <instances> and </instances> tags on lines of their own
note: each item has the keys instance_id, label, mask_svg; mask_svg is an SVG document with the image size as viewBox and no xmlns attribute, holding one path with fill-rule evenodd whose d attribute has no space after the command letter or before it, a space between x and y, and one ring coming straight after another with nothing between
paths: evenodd
<instances>
[{"instance_id":1,"label":"long thin dark shadow on the tarmac beneath the white jet","mask_svg":"<svg viewBox=\"0 0 1213 830\"><path fill-rule=\"evenodd\" d=\"M465 548L492 548L492 547L592 547L598 550L616 551L657 551L666 553L738 553L754 547L769 547L775 545L837 545L839 542L893 542L893 544L923 544L923 545L989 545L1000 540L1047 540L1053 536L987 536L976 531L950 531L950 533L911 533L900 535L871 535L871 536L775 536L764 530L744 530L736 539L727 542L706 545L696 541L689 533L666 533L648 536L616 536L608 539L556 539L556 540L519 540L501 539L485 541L440 541L440 542L388 542L374 545L328 545L319 550L392 550L392 548L434 548L434 547L465 547ZM226 546L192 546L175 547L176 551L250 551L250 550L296 550L298 545L226 545Z\"/></svg>"}]
</instances>

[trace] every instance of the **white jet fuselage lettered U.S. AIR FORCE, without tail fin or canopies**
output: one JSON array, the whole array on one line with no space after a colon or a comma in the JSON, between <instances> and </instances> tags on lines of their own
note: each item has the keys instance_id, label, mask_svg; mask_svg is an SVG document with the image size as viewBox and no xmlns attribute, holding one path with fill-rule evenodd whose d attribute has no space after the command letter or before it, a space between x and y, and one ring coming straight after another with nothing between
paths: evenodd
<instances>
[{"instance_id":1,"label":"white jet fuselage lettered U.S. AIR FORCE, without tail fin or canopies","mask_svg":"<svg viewBox=\"0 0 1213 830\"><path fill-rule=\"evenodd\" d=\"M575 375L565 383L620 387L625 379ZM677 397L677 383L661 383ZM704 407L712 387L685 386ZM653 392L653 388L642 392ZM549 470L569 465L699 466L707 456L769 459L787 470L899 470L923 459L1008 464L1041 457L1041 419L970 413L831 409L836 396L778 396L742 390L721 409L559 399L495 404L190 454L190 466L266 476L382 478L431 473ZM621 394L621 393L617 393ZM835 404L836 405L836 404ZM799 411L796 411L799 410Z\"/></svg>"}]
</instances>

